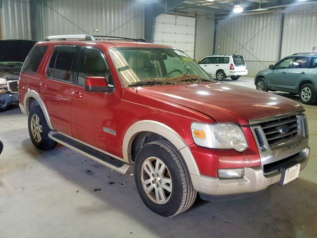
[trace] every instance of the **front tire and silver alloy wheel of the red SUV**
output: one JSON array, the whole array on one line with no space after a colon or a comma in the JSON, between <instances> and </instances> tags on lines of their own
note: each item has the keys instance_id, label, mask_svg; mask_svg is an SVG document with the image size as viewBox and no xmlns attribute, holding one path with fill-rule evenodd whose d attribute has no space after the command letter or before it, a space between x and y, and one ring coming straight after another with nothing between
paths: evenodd
<instances>
[{"instance_id":1,"label":"front tire and silver alloy wheel of the red SUV","mask_svg":"<svg viewBox=\"0 0 317 238\"><path fill-rule=\"evenodd\" d=\"M148 163L152 165L152 169ZM157 164L158 169L156 169ZM166 169L161 173L162 165L165 165ZM165 140L150 142L141 148L135 161L134 179L144 204L163 217L172 217L185 212L193 205L197 196L179 151ZM170 192L165 189L166 187ZM150 188L148 193L147 188ZM156 195L156 191L160 189L162 191L160 194L163 196ZM165 201L160 199L162 197L165 197Z\"/></svg>"}]
</instances>

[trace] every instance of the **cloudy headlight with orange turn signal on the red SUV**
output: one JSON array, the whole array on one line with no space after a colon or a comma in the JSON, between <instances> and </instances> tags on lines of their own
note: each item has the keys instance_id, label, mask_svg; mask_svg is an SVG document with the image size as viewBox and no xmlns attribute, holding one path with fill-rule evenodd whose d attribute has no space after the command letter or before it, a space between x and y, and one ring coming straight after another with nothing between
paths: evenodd
<instances>
[{"instance_id":1,"label":"cloudy headlight with orange turn signal on the red SUV","mask_svg":"<svg viewBox=\"0 0 317 238\"><path fill-rule=\"evenodd\" d=\"M248 147L240 126L234 123L205 124L194 122L191 125L196 145L212 149L235 149L242 152Z\"/></svg>"}]
</instances>

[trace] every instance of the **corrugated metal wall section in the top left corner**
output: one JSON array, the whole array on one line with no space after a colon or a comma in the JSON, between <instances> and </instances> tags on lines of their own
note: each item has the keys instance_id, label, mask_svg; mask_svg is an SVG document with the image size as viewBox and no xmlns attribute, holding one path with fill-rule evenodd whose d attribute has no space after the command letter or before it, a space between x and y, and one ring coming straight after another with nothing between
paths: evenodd
<instances>
[{"instance_id":1,"label":"corrugated metal wall section in the top left corner","mask_svg":"<svg viewBox=\"0 0 317 238\"><path fill-rule=\"evenodd\" d=\"M29 0L2 0L0 8L2 39L31 40Z\"/></svg>"}]
</instances>

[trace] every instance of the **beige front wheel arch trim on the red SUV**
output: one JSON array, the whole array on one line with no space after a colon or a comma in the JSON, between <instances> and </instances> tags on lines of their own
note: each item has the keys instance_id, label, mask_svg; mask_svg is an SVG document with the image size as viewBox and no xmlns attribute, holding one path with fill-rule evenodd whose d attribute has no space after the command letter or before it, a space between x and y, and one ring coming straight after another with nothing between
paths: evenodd
<instances>
[{"instance_id":1,"label":"beige front wheel arch trim on the red SUV","mask_svg":"<svg viewBox=\"0 0 317 238\"><path fill-rule=\"evenodd\" d=\"M192 155L188 145L183 138L172 128L154 120L141 120L132 124L125 132L122 145L123 159L126 163L132 161L132 144L136 136L143 132L156 133L166 140L170 141L182 155L184 162L188 168L188 172L192 175L200 176L198 166Z\"/></svg>"}]
</instances>

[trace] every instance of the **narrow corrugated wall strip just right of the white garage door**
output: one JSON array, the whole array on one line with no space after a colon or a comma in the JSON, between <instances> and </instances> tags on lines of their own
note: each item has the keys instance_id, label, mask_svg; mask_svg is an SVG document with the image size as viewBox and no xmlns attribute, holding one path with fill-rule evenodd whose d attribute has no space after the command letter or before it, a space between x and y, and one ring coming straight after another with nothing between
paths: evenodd
<instances>
[{"instance_id":1,"label":"narrow corrugated wall strip just right of the white garage door","mask_svg":"<svg viewBox=\"0 0 317 238\"><path fill-rule=\"evenodd\" d=\"M212 55L214 18L213 16L196 17L195 60Z\"/></svg>"}]
</instances>

